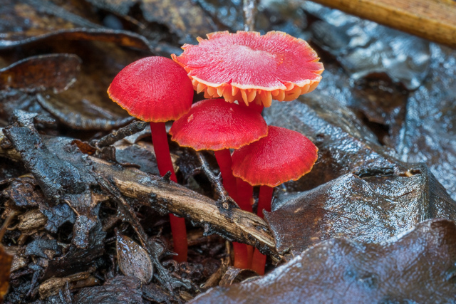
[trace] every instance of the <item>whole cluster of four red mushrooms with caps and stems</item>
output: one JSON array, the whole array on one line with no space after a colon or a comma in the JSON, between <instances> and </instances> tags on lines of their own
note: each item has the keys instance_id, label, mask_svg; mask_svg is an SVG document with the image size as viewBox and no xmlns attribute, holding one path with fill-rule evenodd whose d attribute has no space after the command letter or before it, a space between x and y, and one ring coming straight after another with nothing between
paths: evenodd
<instances>
[{"instance_id":1,"label":"whole cluster of four red mushrooms with caps and stems","mask_svg":"<svg viewBox=\"0 0 456 304\"><path fill-rule=\"evenodd\" d=\"M261 110L272 100L291 101L314 90L323 65L306 41L279 31L225 31L197 40L172 60L154 56L131 63L108 94L130 115L150 122L162 176L171 172L177 182L165 130L165 122L175 120L171 139L214 151L224 188L240 208L252 211L253 187L260 186L257 214L263 217L271 211L274 187L310 172L318 149L299 132L266 125ZM194 90L212 99L192 105ZM187 261L185 221L170 214L170 224L175 260ZM233 247L235 267L264 274L266 256L243 243Z\"/></svg>"}]
</instances>

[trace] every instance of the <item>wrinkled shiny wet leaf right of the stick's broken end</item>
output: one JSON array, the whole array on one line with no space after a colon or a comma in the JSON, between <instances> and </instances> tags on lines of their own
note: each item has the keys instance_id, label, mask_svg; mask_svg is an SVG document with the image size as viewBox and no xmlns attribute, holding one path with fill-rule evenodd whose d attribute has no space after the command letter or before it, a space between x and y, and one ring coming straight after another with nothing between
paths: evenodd
<instances>
[{"instance_id":1,"label":"wrinkled shiny wet leaf right of the stick's broken end","mask_svg":"<svg viewBox=\"0 0 456 304\"><path fill-rule=\"evenodd\" d=\"M326 239L378 243L423 219L455 220L456 202L424 165L416 171L411 177L346 174L296 194L264 219L278 250L294 254Z\"/></svg>"}]
</instances>

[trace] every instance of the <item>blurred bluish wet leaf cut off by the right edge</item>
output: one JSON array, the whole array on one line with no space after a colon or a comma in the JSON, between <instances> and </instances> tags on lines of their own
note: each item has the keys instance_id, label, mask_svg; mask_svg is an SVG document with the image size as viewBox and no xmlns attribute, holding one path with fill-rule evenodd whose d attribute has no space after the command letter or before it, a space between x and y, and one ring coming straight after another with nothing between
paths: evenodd
<instances>
[{"instance_id":1,"label":"blurred bluish wet leaf cut off by the right edge","mask_svg":"<svg viewBox=\"0 0 456 304\"><path fill-rule=\"evenodd\" d=\"M407 101L395 149L405 162L425 162L456 199L456 54L431 45L430 76Z\"/></svg>"}]
</instances>

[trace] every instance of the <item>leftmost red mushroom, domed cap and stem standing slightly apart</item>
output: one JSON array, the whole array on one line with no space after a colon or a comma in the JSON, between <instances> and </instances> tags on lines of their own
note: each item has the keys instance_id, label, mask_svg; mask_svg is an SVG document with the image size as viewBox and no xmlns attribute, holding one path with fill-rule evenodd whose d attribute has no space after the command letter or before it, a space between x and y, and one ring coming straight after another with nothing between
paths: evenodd
<instances>
[{"instance_id":1,"label":"leftmost red mushroom, domed cap and stem standing slightly apart","mask_svg":"<svg viewBox=\"0 0 456 304\"><path fill-rule=\"evenodd\" d=\"M193 88L185 70L169 58L142 58L115 76L108 95L130 115L150 122L158 170L162 176L171 172L170 179L177 182L165 122L177 120L192 105ZM187 261L185 221L170 214L170 224L175 260Z\"/></svg>"}]
</instances>

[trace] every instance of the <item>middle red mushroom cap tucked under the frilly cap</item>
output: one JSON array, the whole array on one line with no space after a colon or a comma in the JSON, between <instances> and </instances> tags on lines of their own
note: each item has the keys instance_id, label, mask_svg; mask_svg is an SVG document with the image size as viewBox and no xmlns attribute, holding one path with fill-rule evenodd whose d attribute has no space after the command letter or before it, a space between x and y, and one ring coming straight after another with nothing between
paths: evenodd
<instances>
[{"instance_id":1,"label":"middle red mushroom cap tucked under the frilly cap","mask_svg":"<svg viewBox=\"0 0 456 304\"><path fill-rule=\"evenodd\" d=\"M182 147L218 151L237 149L268 134L259 112L222 99L202 100L173 122L170 135Z\"/></svg>"}]
</instances>

